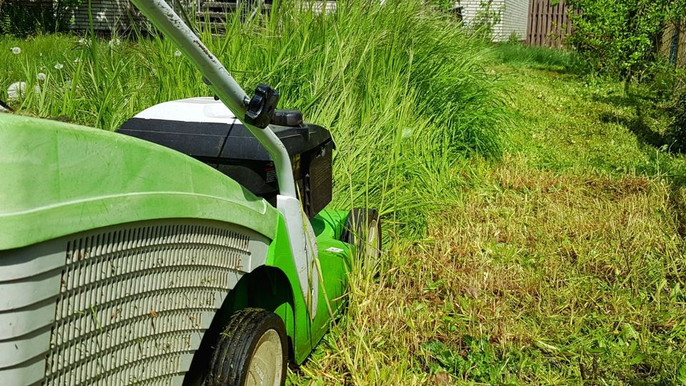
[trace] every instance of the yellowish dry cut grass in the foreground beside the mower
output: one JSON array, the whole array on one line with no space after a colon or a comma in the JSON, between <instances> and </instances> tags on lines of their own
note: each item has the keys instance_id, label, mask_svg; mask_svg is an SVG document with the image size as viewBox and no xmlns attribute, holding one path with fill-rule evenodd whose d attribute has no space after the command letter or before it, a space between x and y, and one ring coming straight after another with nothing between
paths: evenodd
<instances>
[{"instance_id":1,"label":"yellowish dry cut grass in the foreground beside the mower","mask_svg":"<svg viewBox=\"0 0 686 386\"><path fill-rule=\"evenodd\" d=\"M359 385L679 380L686 277L670 187L504 164L431 219L425 240L394 244L379 277L354 278L335 350L307 375Z\"/></svg>"}]
</instances>

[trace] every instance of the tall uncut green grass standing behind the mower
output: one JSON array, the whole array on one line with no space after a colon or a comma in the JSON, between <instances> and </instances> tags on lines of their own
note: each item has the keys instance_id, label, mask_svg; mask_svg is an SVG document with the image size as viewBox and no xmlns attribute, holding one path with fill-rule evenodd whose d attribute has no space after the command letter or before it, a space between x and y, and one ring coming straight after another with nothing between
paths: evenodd
<instances>
[{"instance_id":1,"label":"tall uncut green grass standing behind the mower","mask_svg":"<svg viewBox=\"0 0 686 386\"><path fill-rule=\"evenodd\" d=\"M282 95L279 107L302 109L331 129L335 206L377 207L389 224L417 232L449 201L459 164L499 157L508 114L501 81L484 68L492 53L449 17L420 0L344 0L329 14L289 1L274 7L247 23L229 15L221 36L200 34L248 94L270 84ZM137 37L3 38L2 89L27 81L26 97L14 102L19 112L107 130L151 105L209 94L172 41ZM6 54L14 45L22 54Z\"/></svg>"}]
</instances>

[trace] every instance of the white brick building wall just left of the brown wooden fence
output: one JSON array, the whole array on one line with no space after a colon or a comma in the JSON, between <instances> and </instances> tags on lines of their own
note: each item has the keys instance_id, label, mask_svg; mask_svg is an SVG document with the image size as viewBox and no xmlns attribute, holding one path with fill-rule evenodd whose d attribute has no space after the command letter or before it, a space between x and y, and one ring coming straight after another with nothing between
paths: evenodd
<instances>
[{"instance_id":1,"label":"white brick building wall just left of the brown wooden fence","mask_svg":"<svg viewBox=\"0 0 686 386\"><path fill-rule=\"evenodd\" d=\"M474 22L479 11L482 11L482 2L487 0L461 0L462 19L469 26ZM500 21L493 26L493 40L506 41L514 32L520 40L527 34L527 22L529 21L529 0L492 0L491 11L500 14Z\"/></svg>"}]
</instances>

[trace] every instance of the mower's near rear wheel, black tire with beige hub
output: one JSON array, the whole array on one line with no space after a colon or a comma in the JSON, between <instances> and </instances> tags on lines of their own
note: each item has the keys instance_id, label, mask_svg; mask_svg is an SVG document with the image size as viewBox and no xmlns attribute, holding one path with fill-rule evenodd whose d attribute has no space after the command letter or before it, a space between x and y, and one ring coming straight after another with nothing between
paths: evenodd
<instances>
[{"instance_id":1,"label":"mower's near rear wheel, black tire with beige hub","mask_svg":"<svg viewBox=\"0 0 686 386\"><path fill-rule=\"evenodd\" d=\"M280 358L279 353L274 352L276 345L280 345ZM267 353L267 359L273 359L273 362L264 361L263 353ZM240 310L219 334L203 384L284 385L287 353L286 327L278 315L259 308ZM273 358L269 358L271 356Z\"/></svg>"}]
</instances>

